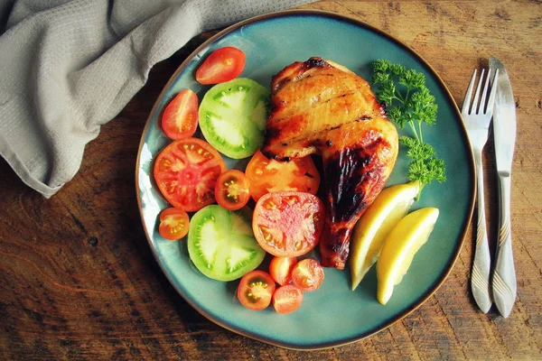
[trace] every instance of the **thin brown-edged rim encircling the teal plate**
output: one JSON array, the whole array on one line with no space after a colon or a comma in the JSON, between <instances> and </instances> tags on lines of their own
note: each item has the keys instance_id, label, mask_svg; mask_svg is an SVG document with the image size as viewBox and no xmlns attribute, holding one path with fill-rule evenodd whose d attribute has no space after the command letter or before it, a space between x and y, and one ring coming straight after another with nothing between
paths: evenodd
<instances>
[{"instance_id":1,"label":"thin brown-edged rim encircling the teal plate","mask_svg":"<svg viewBox=\"0 0 542 361\"><path fill-rule=\"evenodd\" d=\"M171 75L170 79L164 85L164 88L160 92L159 96L156 97L156 100L154 101L154 106L151 109L151 111L149 112L149 116L147 117L147 120L145 122L145 127L144 127L144 129L142 131L142 134L141 134L141 139L140 139L139 146L138 146L138 149L137 149L137 157L136 157L136 160L135 160L135 195L136 195L136 199L137 199L137 206L138 206L139 215L140 215L140 218L141 218L141 223L142 223L142 226L144 227L144 231L145 231L145 237L146 237L147 243L149 244L149 246L151 248L151 251L153 253L154 261L159 265L160 269L162 270L162 273L164 273L165 277L170 282L170 284L173 286L175 291L179 295L181 295L182 299L184 301L186 301L194 310L197 310L203 317L205 317L206 319L209 319L211 322L215 323L216 325L220 326L221 328L228 329L229 331L231 331L233 333L236 333L236 334L238 334L240 336L243 336L243 337L246 337L246 338L252 338L252 339L255 339L257 341L266 343L268 345L276 346L276 347L283 347L283 348L286 348L286 349L292 349L292 350L297 350L297 351L311 351L311 350L322 350L322 349L331 348L331 347L345 346L345 345L349 345L349 344L358 342L358 341L360 341L362 339L369 338L369 337L377 334L378 332L381 332L381 331L383 331L385 329L388 329L390 326L394 325L395 323L397 323L401 319L405 319L406 316L410 315L412 312L417 310L422 304L425 303L425 301L427 301L429 298L431 298L435 294L435 292L442 286L442 284L446 281L446 279L448 278L448 276L452 272L453 266L455 265L455 263L457 262L457 260L459 258L459 255L461 254L461 250L463 248L463 244L464 244L464 241L465 241L465 236L467 234L469 225L470 225L470 223L472 221L472 215L473 215L473 210L474 210L474 202L475 202L476 178L475 178L474 157L473 157L473 154L472 154L472 148L470 146L468 146L467 147L468 149L466 149L465 152L467 153L466 154L467 158L470 161L470 162L468 162L469 163L468 165L470 165L470 167L468 167L468 168L470 169L470 174L471 174L470 184L472 185L471 190L470 190L470 196L469 196L470 207L468 207L468 212L466 214L466 217L463 218L463 227L462 227L462 231L461 231L461 233L459 235L459 238L458 238L459 242L457 243L457 245L455 247L455 250L454 250L453 258L450 260L450 262L448 264L446 264L446 267L445 267L446 271L444 273L442 273L442 278L438 282L435 282L435 284L433 284L432 287L427 292L425 292L425 294L423 294L422 297L418 301L416 301L415 303L410 305L410 307L408 307L403 313L398 314L397 317L395 317L393 319L390 319L390 320L387 320L387 321L382 322L381 324L379 324L378 329L375 329L374 331L370 331L369 333L366 333L366 334L360 335L360 336L356 336L356 337L353 337L353 338L346 338L346 339L342 339L342 340L338 340L338 341L331 341L331 342L322 342L322 343L318 344L317 346L313 346L313 345L296 346L296 345L291 344L291 343L280 342L280 341L276 341L276 340L273 340L273 339L266 338L265 336L256 335L256 334L254 334L252 332L249 332L248 330L234 329L234 328L230 327L229 325L225 324L224 322L222 322L220 319L216 319L216 318L210 316L204 310L201 310L201 308L196 304L196 302L192 301L189 297L187 297L184 294L184 292L182 292L182 290L177 286L176 282L174 282L174 280L172 279L170 273L166 270L161 258L159 257L159 255L157 253L156 247L154 246L154 241L150 237L149 229L147 229L147 227L145 225L145 218L144 218L144 215L143 215L143 208L142 208L141 190L139 188L140 157L141 157L141 154L142 154L143 146L145 144L145 134L148 133L148 128L152 124L153 115L154 115L154 113L156 111L156 108L159 106L160 99L162 99L164 97L165 93L168 91L168 89L171 88L171 86L173 85L175 79L177 79L177 76L182 71L182 69L184 69L190 63L190 61L193 60L193 58L201 51L201 49L209 46L210 44L212 44L213 42L218 41L220 38L226 36L230 32L234 32L234 31L238 30L239 28L241 28L241 27L243 27L245 25L248 25L248 24L251 24L251 23L258 23L258 22L261 22L261 21L274 19L274 18L282 18L282 17L286 17L286 16L300 16L300 15L312 15L312 16L318 16L318 17L324 17L324 18L332 18L332 19L336 19L336 20L339 20L339 21L342 21L342 22L352 23L352 24L354 24L356 26L359 26L361 28L368 29L371 32L376 32L378 35L383 36L383 37L387 38L388 40L390 40L391 42L396 43L398 46L403 47L406 51L410 52L413 56L415 56L416 60L418 60L421 64L423 64L425 66L425 68L428 69L432 73L432 76L436 80L437 85L444 90L444 95L449 98L448 100L450 101L450 103L451 103L451 105L453 107L453 111L455 112L454 117L458 118L458 119L462 119L461 112L460 112L459 107L457 106L457 104L455 102L455 99L452 96L452 93L446 87L446 85L444 83L444 80L438 75L438 73L435 71L435 69L420 54L418 54L415 50L413 50L408 45L406 45L405 42L402 42L402 41L398 40L396 37L392 36L388 32L380 30L377 27L375 27L373 25L370 25L369 23L365 23L365 22L361 21L360 19L354 18L354 17L352 17L350 15L337 14L337 13L333 13L333 12L330 12L330 11L318 10L318 9L289 9L289 10L282 10L282 11L277 11L277 12L268 13L268 14L261 14L261 15L250 17L250 18L248 18L246 20L243 20L243 21L240 21L238 23L231 24L228 27L226 27L225 29L221 30L220 32L217 32L216 34L212 35L208 40L206 40L205 42L202 42L201 45L199 45L194 51L192 51L192 53L190 55L188 55L185 60L182 61L182 63L177 67L177 69L175 69L175 71ZM463 122L457 122L457 123L458 123L457 124L458 127L461 130L461 134L463 135L465 143L470 144L468 136L467 136L466 128L463 125Z\"/></svg>"}]
</instances>

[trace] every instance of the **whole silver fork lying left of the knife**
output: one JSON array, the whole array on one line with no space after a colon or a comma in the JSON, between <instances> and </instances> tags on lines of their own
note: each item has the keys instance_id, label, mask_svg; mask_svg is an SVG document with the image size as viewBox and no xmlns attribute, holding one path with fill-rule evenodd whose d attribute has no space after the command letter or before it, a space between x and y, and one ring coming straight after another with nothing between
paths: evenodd
<instances>
[{"instance_id":1,"label":"whole silver fork lying left of the knife","mask_svg":"<svg viewBox=\"0 0 542 361\"><path fill-rule=\"evenodd\" d=\"M474 98L472 99L472 89L476 81L476 70L472 74L471 83L467 89L467 94L463 102L462 116L463 123L467 128L467 134L471 142L472 153L476 165L476 202L478 205L478 225L476 231L476 248L474 250L474 264L471 273L471 288L474 300L480 309L487 313L491 308L490 292L490 245L486 230L485 202L483 196L483 169L481 166L481 151L488 141L491 116L493 115L493 105L495 103L495 93L497 88L492 87L488 99L488 90L490 88L491 69L486 75L485 84L480 97L480 90L485 70L481 70L480 80L476 87ZM496 84L499 77L499 70L495 72L495 79L492 84Z\"/></svg>"}]
</instances>

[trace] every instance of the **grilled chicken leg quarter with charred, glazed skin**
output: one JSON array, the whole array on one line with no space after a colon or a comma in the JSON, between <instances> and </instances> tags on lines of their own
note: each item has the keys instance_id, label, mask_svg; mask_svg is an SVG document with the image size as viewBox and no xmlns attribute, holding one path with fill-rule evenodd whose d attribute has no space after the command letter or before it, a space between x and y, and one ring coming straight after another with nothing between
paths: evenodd
<instances>
[{"instance_id":1,"label":"grilled chicken leg quarter with charred, glazed skin","mask_svg":"<svg viewBox=\"0 0 542 361\"><path fill-rule=\"evenodd\" d=\"M397 159L397 129L369 83L330 60L294 62L271 82L262 153L277 161L322 155L327 208L322 265L344 269L350 234Z\"/></svg>"}]
</instances>

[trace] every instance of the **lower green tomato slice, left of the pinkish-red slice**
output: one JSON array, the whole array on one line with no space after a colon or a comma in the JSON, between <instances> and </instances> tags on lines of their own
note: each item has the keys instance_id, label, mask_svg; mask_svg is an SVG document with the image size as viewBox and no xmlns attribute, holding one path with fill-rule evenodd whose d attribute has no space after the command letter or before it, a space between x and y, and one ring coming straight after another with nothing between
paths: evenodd
<instances>
[{"instance_id":1,"label":"lower green tomato slice, left of the pinkish-red slice","mask_svg":"<svg viewBox=\"0 0 542 361\"><path fill-rule=\"evenodd\" d=\"M266 256L252 231L251 214L210 205L190 220L188 253L207 277L233 281L257 268Z\"/></svg>"}]
</instances>

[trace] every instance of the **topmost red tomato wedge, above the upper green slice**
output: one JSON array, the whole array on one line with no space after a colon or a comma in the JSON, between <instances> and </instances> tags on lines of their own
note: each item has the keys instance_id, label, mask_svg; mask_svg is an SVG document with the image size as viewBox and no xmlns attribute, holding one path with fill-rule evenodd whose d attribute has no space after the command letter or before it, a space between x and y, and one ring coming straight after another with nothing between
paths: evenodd
<instances>
[{"instance_id":1,"label":"topmost red tomato wedge, above the upper green slice","mask_svg":"<svg viewBox=\"0 0 542 361\"><path fill-rule=\"evenodd\" d=\"M196 70L196 80L203 85L218 84L237 78L245 69L243 51L227 46L210 53Z\"/></svg>"}]
</instances>

